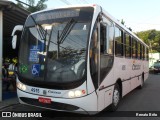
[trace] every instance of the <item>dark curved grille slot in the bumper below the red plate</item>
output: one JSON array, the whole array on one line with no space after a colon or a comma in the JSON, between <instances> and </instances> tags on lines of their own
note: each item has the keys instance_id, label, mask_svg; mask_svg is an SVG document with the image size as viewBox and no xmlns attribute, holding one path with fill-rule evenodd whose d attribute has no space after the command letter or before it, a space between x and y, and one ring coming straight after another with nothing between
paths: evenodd
<instances>
[{"instance_id":1,"label":"dark curved grille slot in the bumper below the red plate","mask_svg":"<svg viewBox=\"0 0 160 120\"><path fill-rule=\"evenodd\" d=\"M22 100L23 102L27 104L50 108L50 109L67 110L67 111L74 111L74 110L79 109L79 107L77 106L69 105L65 103L51 102L51 104L43 104L43 103L38 102L38 99L25 98L25 97L20 97L20 100Z\"/></svg>"}]
</instances>

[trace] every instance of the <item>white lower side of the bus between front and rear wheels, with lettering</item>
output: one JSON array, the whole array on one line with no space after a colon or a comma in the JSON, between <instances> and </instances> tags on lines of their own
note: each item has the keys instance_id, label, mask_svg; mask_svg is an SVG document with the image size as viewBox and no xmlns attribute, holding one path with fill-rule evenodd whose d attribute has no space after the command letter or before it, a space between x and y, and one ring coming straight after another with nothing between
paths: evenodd
<instances>
[{"instance_id":1,"label":"white lower side of the bus between front and rear wheels, with lettering","mask_svg":"<svg viewBox=\"0 0 160 120\"><path fill-rule=\"evenodd\" d=\"M142 73L147 69L143 65L147 62L129 59L124 57L115 57L114 62L114 80L122 81L122 96L126 95L141 84ZM138 68L137 66L141 66ZM135 67L136 66L136 67ZM145 75L147 78L147 75Z\"/></svg>"}]
</instances>

